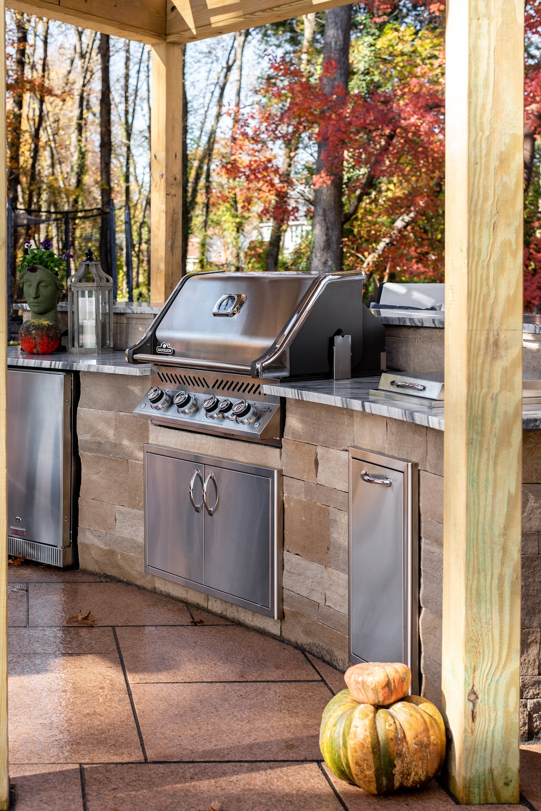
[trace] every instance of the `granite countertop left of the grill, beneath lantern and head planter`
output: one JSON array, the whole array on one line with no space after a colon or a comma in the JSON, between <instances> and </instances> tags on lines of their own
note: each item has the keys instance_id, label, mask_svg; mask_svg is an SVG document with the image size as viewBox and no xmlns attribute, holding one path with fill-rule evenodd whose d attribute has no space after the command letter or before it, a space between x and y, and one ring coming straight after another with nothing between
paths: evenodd
<instances>
[{"instance_id":1,"label":"granite countertop left of the grill, beneath lantern and head planter","mask_svg":"<svg viewBox=\"0 0 541 811\"><path fill-rule=\"evenodd\" d=\"M126 353L114 351L108 354L75 355L55 352L50 355L29 355L19 346L7 347L8 367L31 369L61 369L65 371L101 371L109 375L150 375L151 364L134 366L126 363Z\"/></svg>"}]
</instances>

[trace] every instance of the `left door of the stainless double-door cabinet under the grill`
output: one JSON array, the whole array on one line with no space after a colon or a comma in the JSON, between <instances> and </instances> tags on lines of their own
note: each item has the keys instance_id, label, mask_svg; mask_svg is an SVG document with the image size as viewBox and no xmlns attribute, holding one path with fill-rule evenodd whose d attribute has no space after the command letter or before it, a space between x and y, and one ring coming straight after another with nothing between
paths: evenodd
<instances>
[{"instance_id":1,"label":"left door of the stainless double-door cabinet under the grill","mask_svg":"<svg viewBox=\"0 0 541 811\"><path fill-rule=\"evenodd\" d=\"M147 566L202 583L204 466L156 453L145 463Z\"/></svg>"}]
</instances>

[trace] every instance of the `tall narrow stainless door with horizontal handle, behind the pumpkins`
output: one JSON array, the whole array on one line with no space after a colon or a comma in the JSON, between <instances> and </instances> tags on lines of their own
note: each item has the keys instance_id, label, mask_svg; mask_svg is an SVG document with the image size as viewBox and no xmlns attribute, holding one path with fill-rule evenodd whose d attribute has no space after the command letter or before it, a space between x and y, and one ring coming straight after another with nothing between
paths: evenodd
<instances>
[{"instance_id":1,"label":"tall narrow stainless door with horizontal handle, behind the pumpkins","mask_svg":"<svg viewBox=\"0 0 541 811\"><path fill-rule=\"evenodd\" d=\"M352 662L404 662L418 677L419 471L350 448Z\"/></svg>"}]
</instances>

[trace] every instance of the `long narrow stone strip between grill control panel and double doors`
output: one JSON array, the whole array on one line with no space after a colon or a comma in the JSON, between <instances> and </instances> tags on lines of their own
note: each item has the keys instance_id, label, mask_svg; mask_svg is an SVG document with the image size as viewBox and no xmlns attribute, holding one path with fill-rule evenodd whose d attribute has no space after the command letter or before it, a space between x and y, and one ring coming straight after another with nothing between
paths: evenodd
<instances>
[{"instance_id":1,"label":"long narrow stone strip between grill control panel and double doors","mask_svg":"<svg viewBox=\"0 0 541 811\"><path fill-rule=\"evenodd\" d=\"M231 459L249 465L262 467L281 467L280 448L260 445L241 440L226 440L210 434L198 434L194 431L179 431L177 428L164 428L160 425L149 426L148 441L164 448L201 453L202 456L217 459Z\"/></svg>"}]
</instances>

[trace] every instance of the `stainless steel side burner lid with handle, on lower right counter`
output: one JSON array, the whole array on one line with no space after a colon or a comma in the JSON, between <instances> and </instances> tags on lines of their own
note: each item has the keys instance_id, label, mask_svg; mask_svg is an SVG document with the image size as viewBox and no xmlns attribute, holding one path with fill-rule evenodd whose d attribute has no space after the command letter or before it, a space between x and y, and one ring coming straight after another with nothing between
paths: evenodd
<instances>
[{"instance_id":1,"label":"stainless steel side burner lid with handle, on lower right counter","mask_svg":"<svg viewBox=\"0 0 541 811\"><path fill-rule=\"evenodd\" d=\"M386 371L381 375L377 389L370 389L371 397L384 397L386 400L398 400L403 403L424 405L432 409L443 409L444 406L444 372L423 371L419 374L407 374L398 371ZM522 404L541 403L541 375L539 371L522 372Z\"/></svg>"}]
</instances>

